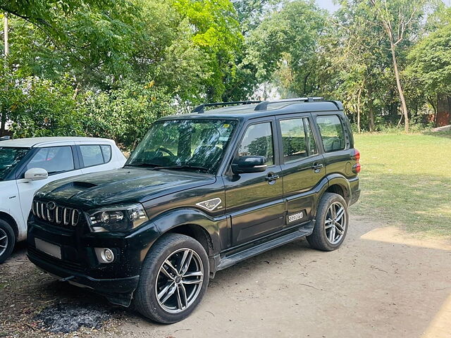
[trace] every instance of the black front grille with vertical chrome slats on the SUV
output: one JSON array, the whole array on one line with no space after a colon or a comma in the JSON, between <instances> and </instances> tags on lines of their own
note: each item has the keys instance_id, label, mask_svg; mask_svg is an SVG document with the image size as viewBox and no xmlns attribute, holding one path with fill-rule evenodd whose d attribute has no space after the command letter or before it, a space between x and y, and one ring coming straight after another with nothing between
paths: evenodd
<instances>
[{"instance_id":1,"label":"black front grille with vertical chrome slats on the SUV","mask_svg":"<svg viewBox=\"0 0 451 338\"><path fill-rule=\"evenodd\" d=\"M40 220L56 225L71 225L75 227L80 220L80 211L78 209L60 206L54 201L34 200L32 213Z\"/></svg>"}]
</instances>

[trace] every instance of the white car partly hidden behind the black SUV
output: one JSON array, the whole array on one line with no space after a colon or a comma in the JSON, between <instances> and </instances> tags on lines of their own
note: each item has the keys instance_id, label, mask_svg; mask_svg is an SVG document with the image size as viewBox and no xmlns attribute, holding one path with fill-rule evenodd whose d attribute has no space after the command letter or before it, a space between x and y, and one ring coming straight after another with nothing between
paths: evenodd
<instances>
[{"instance_id":1,"label":"white car partly hidden behind the black SUV","mask_svg":"<svg viewBox=\"0 0 451 338\"><path fill-rule=\"evenodd\" d=\"M27 237L33 196L61 178L123 167L111 139L36 137L0 142L0 263Z\"/></svg>"}]
</instances>

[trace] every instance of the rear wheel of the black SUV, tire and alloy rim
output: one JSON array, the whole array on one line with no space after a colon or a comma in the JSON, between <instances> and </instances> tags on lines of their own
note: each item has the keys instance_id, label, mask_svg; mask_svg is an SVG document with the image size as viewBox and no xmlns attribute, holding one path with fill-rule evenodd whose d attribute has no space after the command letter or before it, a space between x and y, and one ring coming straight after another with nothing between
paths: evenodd
<instances>
[{"instance_id":1,"label":"rear wheel of the black SUV, tire and alloy rim","mask_svg":"<svg viewBox=\"0 0 451 338\"><path fill-rule=\"evenodd\" d=\"M314 249L333 251L344 242L349 215L347 203L339 194L326 192L319 201L316 211L316 223L307 241Z\"/></svg>"}]
</instances>

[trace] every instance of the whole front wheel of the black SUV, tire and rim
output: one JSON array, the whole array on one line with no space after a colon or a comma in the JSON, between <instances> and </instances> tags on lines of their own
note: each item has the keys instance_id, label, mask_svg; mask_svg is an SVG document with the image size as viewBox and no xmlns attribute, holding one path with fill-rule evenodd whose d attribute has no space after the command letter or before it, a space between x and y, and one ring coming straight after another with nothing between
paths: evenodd
<instances>
[{"instance_id":1,"label":"whole front wheel of the black SUV, tire and rim","mask_svg":"<svg viewBox=\"0 0 451 338\"><path fill-rule=\"evenodd\" d=\"M209 258L199 242L184 234L165 234L144 260L135 307L159 323L183 320L202 300L209 275Z\"/></svg>"}]
</instances>

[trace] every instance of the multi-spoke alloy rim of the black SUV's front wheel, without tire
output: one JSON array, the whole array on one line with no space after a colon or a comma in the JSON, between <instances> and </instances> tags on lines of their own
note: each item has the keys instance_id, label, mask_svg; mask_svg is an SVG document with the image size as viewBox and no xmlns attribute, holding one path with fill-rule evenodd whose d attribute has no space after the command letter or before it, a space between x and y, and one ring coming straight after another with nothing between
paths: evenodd
<instances>
[{"instance_id":1,"label":"multi-spoke alloy rim of the black SUV's front wheel, without tire","mask_svg":"<svg viewBox=\"0 0 451 338\"><path fill-rule=\"evenodd\" d=\"M178 249L161 264L156 277L156 299L168 313L180 313L199 296L204 280L204 265L192 249Z\"/></svg>"}]
</instances>

